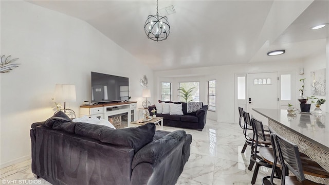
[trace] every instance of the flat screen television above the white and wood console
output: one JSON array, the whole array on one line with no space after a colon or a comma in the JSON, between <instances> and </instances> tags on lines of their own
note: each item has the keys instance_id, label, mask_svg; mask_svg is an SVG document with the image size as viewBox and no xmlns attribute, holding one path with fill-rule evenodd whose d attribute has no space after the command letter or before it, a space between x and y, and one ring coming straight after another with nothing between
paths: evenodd
<instances>
[{"instance_id":1,"label":"flat screen television above the white and wood console","mask_svg":"<svg viewBox=\"0 0 329 185\"><path fill-rule=\"evenodd\" d=\"M129 99L129 78L91 72L92 103L121 102Z\"/></svg>"}]
</instances>

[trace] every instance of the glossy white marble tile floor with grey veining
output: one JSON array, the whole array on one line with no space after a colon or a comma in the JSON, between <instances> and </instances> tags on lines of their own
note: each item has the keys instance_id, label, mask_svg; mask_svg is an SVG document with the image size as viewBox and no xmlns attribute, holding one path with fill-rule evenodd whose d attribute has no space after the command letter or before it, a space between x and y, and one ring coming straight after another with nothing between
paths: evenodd
<instances>
[{"instance_id":1,"label":"glossy white marble tile floor with grey veining","mask_svg":"<svg viewBox=\"0 0 329 185\"><path fill-rule=\"evenodd\" d=\"M157 129L160 129L157 126ZM182 130L164 126L165 131ZM191 155L185 164L177 184L251 184L252 171L249 171L250 147L241 154L244 144L242 129L236 123L221 123L207 120L202 132L184 129L192 135ZM1 171L0 184L50 184L46 180L33 177L31 160L26 160ZM271 169L260 168L255 184L270 175Z\"/></svg>"}]
</instances>

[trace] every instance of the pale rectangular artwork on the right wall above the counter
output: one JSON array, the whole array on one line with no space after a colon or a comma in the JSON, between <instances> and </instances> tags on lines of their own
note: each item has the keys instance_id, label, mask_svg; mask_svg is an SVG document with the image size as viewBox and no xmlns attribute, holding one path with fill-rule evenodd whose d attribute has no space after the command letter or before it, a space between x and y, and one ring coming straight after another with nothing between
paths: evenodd
<instances>
[{"instance_id":1,"label":"pale rectangular artwork on the right wall above the counter","mask_svg":"<svg viewBox=\"0 0 329 185\"><path fill-rule=\"evenodd\" d=\"M311 95L325 96L325 69L310 72Z\"/></svg>"}]
</instances>

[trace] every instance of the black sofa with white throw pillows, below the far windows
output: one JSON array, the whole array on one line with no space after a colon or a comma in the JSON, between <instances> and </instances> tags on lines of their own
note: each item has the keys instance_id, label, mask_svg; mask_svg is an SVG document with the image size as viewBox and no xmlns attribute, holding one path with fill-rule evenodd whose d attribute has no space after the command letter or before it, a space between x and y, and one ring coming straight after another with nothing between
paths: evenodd
<instances>
[{"instance_id":1,"label":"black sofa with white throw pillows, below the far windows","mask_svg":"<svg viewBox=\"0 0 329 185\"><path fill-rule=\"evenodd\" d=\"M162 101L159 100L159 103ZM175 103L182 104L182 112L184 115L170 115L170 114L155 114L158 117L163 117L163 125L165 126L174 126L180 128L192 128L198 131L202 131L206 125L208 105L203 105L202 108L193 113L187 112L187 103L186 102L171 102L166 101L165 103ZM152 109L156 109L155 105L149 106L149 112L152 116Z\"/></svg>"}]
</instances>

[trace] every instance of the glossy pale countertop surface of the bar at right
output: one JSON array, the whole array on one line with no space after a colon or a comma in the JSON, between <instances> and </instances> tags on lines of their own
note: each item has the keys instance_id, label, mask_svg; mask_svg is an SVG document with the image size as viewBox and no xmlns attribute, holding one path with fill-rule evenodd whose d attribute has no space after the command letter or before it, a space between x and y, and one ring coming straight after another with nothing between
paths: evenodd
<instances>
[{"instance_id":1,"label":"glossy pale countertop surface of the bar at right","mask_svg":"<svg viewBox=\"0 0 329 185\"><path fill-rule=\"evenodd\" d=\"M286 109L252 109L329 151L329 113L323 113L321 117L315 117L312 113L300 112L297 112L296 115L288 115Z\"/></svg>"}]
</instances>

